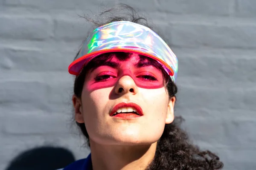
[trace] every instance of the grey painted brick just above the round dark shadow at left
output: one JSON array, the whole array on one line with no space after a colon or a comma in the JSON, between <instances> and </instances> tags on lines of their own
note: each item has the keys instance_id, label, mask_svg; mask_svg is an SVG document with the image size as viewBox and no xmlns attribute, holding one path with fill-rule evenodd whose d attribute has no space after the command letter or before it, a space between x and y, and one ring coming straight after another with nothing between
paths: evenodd
<instances>
[{"instance_id":1,"label":"grey painted brick just above the round dark shadow at left","mask_svg":"<svg viewBox=\"0 0 256 170\"><path fill-rule=\"evenodd\" d=\"M61 113L49 115L45 112L9 113L5 118L4 132L7 134L60 134L68 133L69 116Z\"/></svg>"}]
</instances>

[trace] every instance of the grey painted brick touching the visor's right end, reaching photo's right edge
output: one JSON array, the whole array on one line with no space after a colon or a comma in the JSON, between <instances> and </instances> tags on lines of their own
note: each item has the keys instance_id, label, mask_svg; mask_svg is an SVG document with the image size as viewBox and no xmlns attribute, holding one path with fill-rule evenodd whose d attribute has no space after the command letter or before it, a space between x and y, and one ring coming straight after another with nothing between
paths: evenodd
<instances>
[{"instance_id":1,"label":"grey painted brick touching the visor's right end, reaching photo's right edge","mask_svg":"<svg viewBox=\"0 0 256 170\"><path fill-rule=\"evenodd\" d=\"M179 60L178 85L209 88L255 87L255 50L204 47L172 47L172 50Z\"/></svg>"}]
</instances>

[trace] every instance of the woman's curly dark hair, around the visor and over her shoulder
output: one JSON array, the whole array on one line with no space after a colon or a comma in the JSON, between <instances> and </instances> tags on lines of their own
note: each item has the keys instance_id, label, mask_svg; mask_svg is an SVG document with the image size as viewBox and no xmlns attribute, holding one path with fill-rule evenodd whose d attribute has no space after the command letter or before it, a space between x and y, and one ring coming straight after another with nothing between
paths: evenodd
<instances>
[{"instance_id":1,"label":"woman's curly dark hair, around the visor and over her shoulder","mask_svg":"<svg viewBox=\"0 0 256 170\"><path fill-rule=\"evenodd\" d=\"M121 10L120 10L121 9ZM108 20L102 22L106 18L102 17L104 14L114 14L114 11L120 10L124 14L124 10L128 11L125 17L118 15L118 17L107 17ZM93 20L89 17L84 17L86 20L93 22L97 27L111 23L114 21L131 21L144 25L148 28L148 22L144 17L140 17L134 8L122 4L119 8L111 8L99 15L99 21ZM151 28L152 29L152 28ZM84 79L87 71L98 65L100 62L105 62L111 58L113 53L101 54L92 59L87 65L84 66L81 73L76 77L74 83L74 94L81 98L81 92L84 85ZM119 59L125 59L129 56L128 53L116 52L115 56ZM77 56L75 57L75 59ZM162 70L168 90L169 98L176 97L177 86L163 70L162 66L154 59L140 56L141 59L147 59L154 66ZM157 150L153 161L148 165L147 170L219 170L223 167L223 163L219 161L219 157L209 150L202 151L197 146L189 141L188 135L180 128L183 121L181 117L175 117L174 122L165 125L162 136L157 142ZM87 133L84 123L76 124L80 127L81 132L87 138L87 144L90 147L89 135Z\"/></svg>"}]
</instances>

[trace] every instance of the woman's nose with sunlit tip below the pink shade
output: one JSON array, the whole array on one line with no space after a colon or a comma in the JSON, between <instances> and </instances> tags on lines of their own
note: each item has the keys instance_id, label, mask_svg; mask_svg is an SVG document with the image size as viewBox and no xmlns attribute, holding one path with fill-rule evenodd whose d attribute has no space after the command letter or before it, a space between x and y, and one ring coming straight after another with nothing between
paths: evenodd
<instances>
[{"instance_id":1,"label":"woman's nose with sunlit tip below the pink shade","mask_svg":"<svg viewBox=\"0 0 256 170\"><path fill-rule=\"evenodd\" d=\"M121 77L115 87L116 94L137 94L137 85L130 76Z\"/></svg>"}]
</instances>

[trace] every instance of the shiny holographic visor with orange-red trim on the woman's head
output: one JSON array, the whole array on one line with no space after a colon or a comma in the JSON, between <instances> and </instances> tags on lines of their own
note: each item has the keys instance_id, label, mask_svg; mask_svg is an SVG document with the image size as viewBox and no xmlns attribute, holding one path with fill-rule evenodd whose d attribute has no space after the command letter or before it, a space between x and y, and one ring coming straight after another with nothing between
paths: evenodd
<instances>
[{"instance_id":1,"label":"shiny holographic visor with orange-red trim on the woman's head","mask_svg":"<svg viewBox=\"0 0 256 170\"><path fill-rule=\"evenodd\" d=\"M129 21L117 21L96 28L85 40L68 71L77 76L94 57L117 51L137 53L157 60L175 82L178 60L166 42L150 28Z\"/></svg>"}]
</instances>

